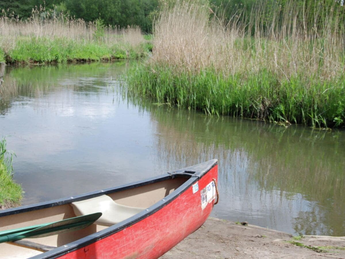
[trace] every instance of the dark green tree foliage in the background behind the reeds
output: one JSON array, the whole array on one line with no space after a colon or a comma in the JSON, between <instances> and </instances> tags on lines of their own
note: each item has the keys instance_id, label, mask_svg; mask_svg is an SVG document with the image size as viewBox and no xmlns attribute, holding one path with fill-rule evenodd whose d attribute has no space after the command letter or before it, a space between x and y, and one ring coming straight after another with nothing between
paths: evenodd
<instances>
[{"instance_id":1,"label":"dark green tree foliage in the background behind the reeds","mask_svg":"<svg viewBox=\"0 0 345 259\"><path fill-rule=\"evenodd\" d=\"M174 4L176 0L0 0L0 10L7 15L28 18L31 10L42 6L46 10L55 9L65 12L72 17L85 21L101 19L105 25L120 28L137 25L145 32L151 32L152 21L164 4ZM224 20L230 19L234 13L242 17L249 17L253 10L265 10L265 19L272 19L272 10L284 9L286 5L299 8L307 12L307 24L323 24L323 18L338 6L345 17L344 0L195 0L196 3L208 4L216 14ZM316 19L317 17L317 19ZM323 18L322 18L323 17ZM264 20L263 19L263 22Z\"/></svg>"}]
</instances>

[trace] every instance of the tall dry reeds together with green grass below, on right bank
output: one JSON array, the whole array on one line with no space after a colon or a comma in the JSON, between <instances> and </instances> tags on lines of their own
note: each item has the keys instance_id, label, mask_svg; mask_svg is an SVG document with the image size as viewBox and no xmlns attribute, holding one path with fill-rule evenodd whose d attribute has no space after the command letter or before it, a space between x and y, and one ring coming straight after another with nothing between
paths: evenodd
<instances>
[{"instance_id":1,"label":"tall dry reeds together with green grass below, on right bank","mask_svg":"<svg viewBox=\"0 0 345 259\"><path fill-rule=\"evenodd\" d=\"M128 71L128 90L209 115L344 127L344 5L267 9L260 2L227 20L195 1L167 5L154 23L152 57Z\"/></svg>"}]
</instances>

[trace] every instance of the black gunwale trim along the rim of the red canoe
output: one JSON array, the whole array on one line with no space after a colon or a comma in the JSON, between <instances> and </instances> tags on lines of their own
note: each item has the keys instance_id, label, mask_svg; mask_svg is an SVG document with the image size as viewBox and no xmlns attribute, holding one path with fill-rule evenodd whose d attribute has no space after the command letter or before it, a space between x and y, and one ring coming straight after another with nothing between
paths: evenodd
<instances>
[{"instance_id":1,"label":"black gunwale trim along the rim of the red canoe","mask_svg":"<svg viewBox=\"0 0 345 259\"><path fill-rule=\"evenodd\" d=\"M175 191L170 193L169 195L165 196L164 199L156 202L152 206L148 207L146 210L139 212L138 214L121 221L118 224L115 224L113 226L110 226L106 229L103 229L99 232L93 233L89 236L86 236L84 238L78 239L76 241L73 241L71 243L68 243L64 246L57 247L55 249L52 249L48 252L42 253L37 256L30 257L32 259L46 259L46 258L56 258L62 255L65 255L69 252L78 250L81 247L85 247L91 243L94 243L98 240L101 240L103 238L109 237L112 234L115 234L116 232L121 231L122 229L125 229L127 227L132 226L133 224L149 217L150 215L154 214L161 208L165 207L167 204L175 200L178 196L180 196L182 193L184 193L192 184L194 184L198 179L200 179L202 176L204 176L208 171L210 171L214 166L218 164L218 161L216 159L186 167L184 169L176 170L173 172L165 173L160 176L155 176L152 178L149 178L144 181L138 181L130 184L125 184L125 185L120 185L115 188L107 188L104 190L99 190L99 191L94 191L94 192L89 192L85 194L80 194L75 197L69 197L69 198L64 198L64 199L58 199L54 201L48 201L48 202L42 202L38 204L33 204L33 205L27 205L19 208L13 208L13 209L8 209L3 212L0 212L0 218L2 216L6 215L12 215L12 214L18 214L21 212L27 212L27 211L33 211L33 210L38 210L38 209L44 209L44 208L50 208L50 207L55 207L58 205L63 205L63 204L68 204L71 202L75 201L80 201L84 199L90 199L96 196L100 196L103 194L115 192L115 191L122 191L122 190L128 190L136 187L140 187L143 185L151 184L151 183L156 183L160 181L164 181L167 179L173 179L175 177L178 177L179 174L181 174L180 177L186 176L186 174L190 175L190 178L181 184ZM186 172L186 173L185 173Z\"/></svg>"}]
</instances>

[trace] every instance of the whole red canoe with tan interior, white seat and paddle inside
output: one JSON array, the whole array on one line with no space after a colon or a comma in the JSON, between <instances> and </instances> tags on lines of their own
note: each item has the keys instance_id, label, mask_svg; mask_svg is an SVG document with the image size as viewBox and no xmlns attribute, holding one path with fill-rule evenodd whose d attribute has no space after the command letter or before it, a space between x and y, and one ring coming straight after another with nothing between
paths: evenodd
<instances>
[{"instance_id":1,"label":"whole red canoe with tan interior, white seat and paddle inside","mask_svg":"<svg viewBox=\"0 0 345 259\"><path fill-rule=\"evenodd\" d=\"M0 258L158 258L217 197L217 160L145 181L0 212ZM29 239L30 238L30 239Z\"/></svg>"}]
</instances>

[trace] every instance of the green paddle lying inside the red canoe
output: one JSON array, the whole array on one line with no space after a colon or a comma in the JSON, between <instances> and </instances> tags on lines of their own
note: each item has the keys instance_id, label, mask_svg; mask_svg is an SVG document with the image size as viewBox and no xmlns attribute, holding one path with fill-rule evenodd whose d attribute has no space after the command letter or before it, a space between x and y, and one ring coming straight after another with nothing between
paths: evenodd
<instances>
[{"instance_id":1,"label":"green paddle lying inside the red canoe","mask_svg":"<svg viewBox=\"0 0 345 259\"><path fill-rule=\"evenodd\" d=\"M23 238L47 237L58 233L83 229L98 220L101 215L101 212L97 212L52 223L2 231L0 232L0 243Z\"/></svg>"}]
</instances>

